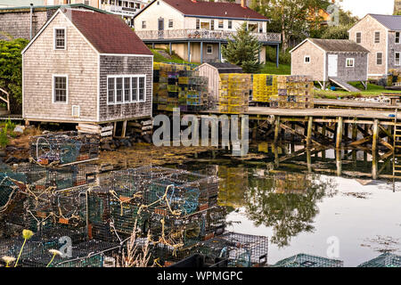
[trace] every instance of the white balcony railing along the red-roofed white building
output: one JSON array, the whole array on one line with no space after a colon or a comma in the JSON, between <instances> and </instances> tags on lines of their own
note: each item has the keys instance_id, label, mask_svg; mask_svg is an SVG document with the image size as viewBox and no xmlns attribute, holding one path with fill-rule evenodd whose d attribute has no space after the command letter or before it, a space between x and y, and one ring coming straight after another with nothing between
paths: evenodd
<instances>
[{"instance_id":1,"label":"white balcony railing along the red-roofed white building","mask_svg":"<svg viewBox=\"0 0 401 285\"><path fill-rule=\"evenodd\" d=\"M170 30L140 30L135 31L142 40L152 39L233 39L236 32L209 29L170 29ZM251 33L260 42L281 42L281 34L278 33Z\"/></svg>"}]
</instances>

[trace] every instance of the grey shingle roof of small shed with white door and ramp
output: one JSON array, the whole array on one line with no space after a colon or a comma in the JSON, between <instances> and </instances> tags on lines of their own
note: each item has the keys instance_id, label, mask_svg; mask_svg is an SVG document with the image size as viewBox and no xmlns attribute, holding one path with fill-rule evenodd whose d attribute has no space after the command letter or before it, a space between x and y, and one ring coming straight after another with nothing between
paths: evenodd
<instances>
[{"instance_id":1,"label":"grey shingle roof of small shed with white door and ramp","mask_svg":"<svg viewBox=\"0 0 401 285\"><path fill-rule=\"evenodd\" d=\"M309 38L309 40L326 52L369 53L362 45L358 45L356 42L348 39Z\"/></svg>"}]
</instances>

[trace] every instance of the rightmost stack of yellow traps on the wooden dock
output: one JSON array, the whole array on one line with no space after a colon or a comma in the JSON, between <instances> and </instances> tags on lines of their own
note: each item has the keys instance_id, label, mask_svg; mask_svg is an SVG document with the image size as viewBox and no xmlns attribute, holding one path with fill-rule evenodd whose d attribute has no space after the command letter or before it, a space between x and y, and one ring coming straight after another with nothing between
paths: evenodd
<instances>
[{"instance_id":1,"label":"rightmost stack of yellow traps on the wooden dock","mask_svg":"<svg viewBox=\"0 0 401 285\"><path fill-rule=\"evenodd\" d=\"M277 76L277 96L271 106L278 108L314 108L314 84L307 76Z\"/></svg>"}]
</instances>

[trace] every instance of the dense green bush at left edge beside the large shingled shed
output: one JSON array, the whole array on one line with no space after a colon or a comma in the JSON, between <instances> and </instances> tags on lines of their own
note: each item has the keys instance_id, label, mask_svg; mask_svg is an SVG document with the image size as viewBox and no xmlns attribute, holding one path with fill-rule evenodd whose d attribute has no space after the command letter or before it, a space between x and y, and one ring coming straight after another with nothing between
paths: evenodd
<instances>
[{"instance_id":1,"label":"dense green bush at left edge beside the large shingled shed","mask_svg":"<svg viewBox=\"0 0 401 285\"><path fill-rule=\"evenodd\" d=\"M0 40L0 87L10 94L11 111L20 112L22 104L21 51L29 41L24 38Z\"/></svg>"}]
</instances>

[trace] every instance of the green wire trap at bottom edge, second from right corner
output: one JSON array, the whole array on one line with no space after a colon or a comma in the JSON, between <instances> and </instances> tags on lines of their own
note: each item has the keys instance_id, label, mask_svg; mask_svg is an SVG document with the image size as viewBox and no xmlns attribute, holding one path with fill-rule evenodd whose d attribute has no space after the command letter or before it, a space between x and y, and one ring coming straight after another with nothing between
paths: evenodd
<instances>
[{"instance_id":1,"label":"green wire trap at bottom edge, second from right corner","mask_svg":"<svg viewBox=\"0 0 401 285\"><path fill-rule=\"evenodd\" d=\"M273 267L342 267L344 262L321 256L299 254L277 262Z\"/></svg>"}]
</instances>

